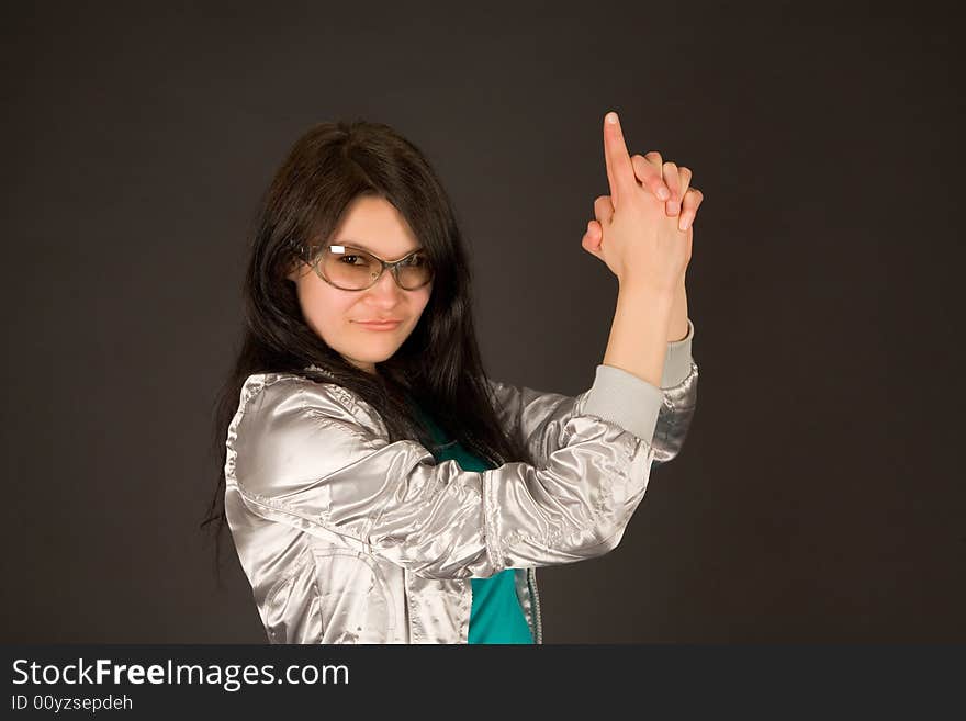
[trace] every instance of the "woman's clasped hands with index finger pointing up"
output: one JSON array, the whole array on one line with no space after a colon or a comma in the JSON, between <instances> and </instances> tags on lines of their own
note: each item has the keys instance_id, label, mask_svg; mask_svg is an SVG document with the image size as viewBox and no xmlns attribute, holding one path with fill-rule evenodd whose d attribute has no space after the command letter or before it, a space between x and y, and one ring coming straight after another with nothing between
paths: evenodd
<instances>
[{"instance_id":1,"label":"woman's clasped hands with index finger pointing up","mask_svg":"<svg viewBox=\"0 0 966 721\"><path fill-rule=\"evenodd\" d=\"M656 151L630 158L616 113L605 119L604 158L610 195L594 203L596 221L582 239L584 249L600 258L621 283L673 292L690 261L690 223L704 195L688 188L690 170L662 164Z\"/></svg>"}]
</instances>

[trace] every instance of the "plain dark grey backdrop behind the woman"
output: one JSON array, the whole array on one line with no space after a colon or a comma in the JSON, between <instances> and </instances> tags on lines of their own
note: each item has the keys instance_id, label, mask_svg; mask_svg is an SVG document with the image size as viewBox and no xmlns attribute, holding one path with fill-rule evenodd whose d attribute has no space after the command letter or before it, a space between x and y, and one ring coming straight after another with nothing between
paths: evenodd
<instances>
[{"instance_id":1,"label":"plain dark grey backdrop behind the woman","mask_svg":"<svg viewBox=\"0 0 966 721\"><path fill-rule=\"evenodd\" d=\"M491 375L588 387L611 109L705 193L699 403L618 549L538 572L547 641L966 640L946 10L192 5L0 11L2 641L265 641L199 522L257 202L314 123L438 169Z\"/></svg>"}]
</instances>

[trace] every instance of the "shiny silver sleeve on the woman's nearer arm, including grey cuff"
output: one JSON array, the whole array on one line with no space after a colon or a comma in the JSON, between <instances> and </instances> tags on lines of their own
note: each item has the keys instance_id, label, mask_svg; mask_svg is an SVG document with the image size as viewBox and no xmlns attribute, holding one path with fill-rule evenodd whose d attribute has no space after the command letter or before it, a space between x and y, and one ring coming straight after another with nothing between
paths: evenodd
<instances>
[{"instance_id":1,"label":"shiny silver sleeve on the woman's nearer arm, including grey cuff","mask_svg":"<svg viewBox=\"0 0 966 721\"><path fill-rule=\"evenodd\" d=\"M546 467L464 471L387 442L335 384L250 376L228 430L226 483L248 508L429 578L565 564L620 541L648 485L660 388L598 367ZM341 399L340 399L341 398Z\"/></svg>"}]
</instances>

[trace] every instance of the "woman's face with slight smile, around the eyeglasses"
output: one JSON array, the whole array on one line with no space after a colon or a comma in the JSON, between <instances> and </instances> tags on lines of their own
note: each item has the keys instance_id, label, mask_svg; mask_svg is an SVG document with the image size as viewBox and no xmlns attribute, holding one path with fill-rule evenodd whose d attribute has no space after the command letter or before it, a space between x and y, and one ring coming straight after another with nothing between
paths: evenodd
<instances>
[{"instance_id":1,"label":"woman's face with slight smile, around the eyeglasses","mask_svg":"<svg viewBox=\"0 0 966 721\"><path fill-rule=\"evenodd\" d=\"M372 195L359 196L349 204L327 243L355 246L386 261L398 260L420 247L395 206ZM403 345L433 291L433 282L415 291L403 290L389 270L372 288L344 291L324 281L305 262L299 262L289 279L295 283L308 326L348 362L370 373L375 372L374 363L386 360ZM383 318L401 323L389 330L362 325Z\"/></svg>"}]
</instances>

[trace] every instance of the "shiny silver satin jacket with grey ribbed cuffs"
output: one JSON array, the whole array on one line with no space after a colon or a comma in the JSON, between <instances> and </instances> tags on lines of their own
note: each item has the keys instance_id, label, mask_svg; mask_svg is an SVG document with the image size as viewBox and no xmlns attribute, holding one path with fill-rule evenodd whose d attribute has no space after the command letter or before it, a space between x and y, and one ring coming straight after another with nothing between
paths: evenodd
<instances>
[{"instance_id":1,"label":"shiny silver satin jacket with grey ribbed cuffs","mask_svg":"<svg viewBox=\"0 0 966 721\"><path fill-rule=\"evenodd\" d=\"M467 643L470 578L515 568L542 643L535 567L620 542L652 464L690 425L693 337L688 320L667 345L661 388L603 364L576 396L490 381L537 465L487 471L390 443L340 385L250 375L226 440L225 514L269 642Z\"/></svg>"}]
</instances>

